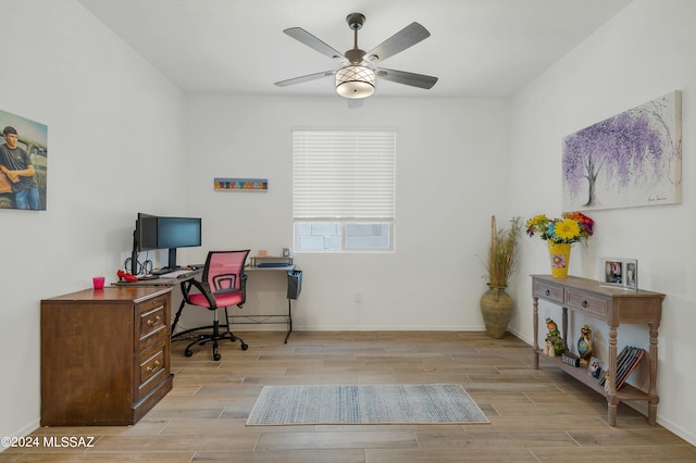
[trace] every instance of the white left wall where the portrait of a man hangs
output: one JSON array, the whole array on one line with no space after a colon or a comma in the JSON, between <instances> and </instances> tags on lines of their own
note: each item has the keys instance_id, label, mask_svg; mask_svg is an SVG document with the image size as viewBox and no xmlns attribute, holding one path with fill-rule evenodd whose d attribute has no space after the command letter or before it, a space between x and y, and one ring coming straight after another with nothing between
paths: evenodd
<instances>
[{"instance_id":1,"label":"white left wall where the portrait of a man hangs","mask_svg":"<svg viewBox=\"0 0 696 463\"><path fill-rule=\"evenodd\" d=\"M139 209L183 212L185 100L72 0L0 11L0 108L48 125L47 211L0 211L0 436L22 436L39 424L39 301L113 279Z\"/></svg>"}]
</instances>

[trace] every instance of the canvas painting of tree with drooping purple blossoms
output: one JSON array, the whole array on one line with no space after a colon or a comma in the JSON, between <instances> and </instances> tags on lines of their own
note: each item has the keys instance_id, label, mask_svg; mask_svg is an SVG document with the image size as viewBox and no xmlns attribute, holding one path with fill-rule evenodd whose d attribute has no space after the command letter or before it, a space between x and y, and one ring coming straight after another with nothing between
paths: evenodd
<instances>
[{"instance_id":1,"label":"canvas painting of tree with drooping purple blossoms","mask_svg":"<svg viewBox=\"0 0 696 463\"><path fill-rule=\"evenodd\" d=\"M681 92L563 139L563 211L681 202Z\"/></svg>"}]
</instances>

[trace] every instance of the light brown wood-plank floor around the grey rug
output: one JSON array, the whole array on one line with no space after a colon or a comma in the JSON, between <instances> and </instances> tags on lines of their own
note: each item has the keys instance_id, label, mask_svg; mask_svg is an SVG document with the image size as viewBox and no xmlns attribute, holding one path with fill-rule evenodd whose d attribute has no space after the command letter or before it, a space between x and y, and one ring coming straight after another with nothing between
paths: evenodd
<instances>
[{"instance_id":1,"label":"light brown wood-plank floor around the grey rug","mask_svg":"<svg viewBox=\"0 0 696 463\"><path fill-rule=\"evenodd\" d=\"M7 449L0 461L696 462L696 448L556 367L531 348L481 333L249 333L249 350L174 342L174 389L128 427L52 427L33 436L94 437L94 447ZM245 426L264 385L459 383L489 424ZM659 410L659 409L658 409Z\"/></svg>"}]
</instances>

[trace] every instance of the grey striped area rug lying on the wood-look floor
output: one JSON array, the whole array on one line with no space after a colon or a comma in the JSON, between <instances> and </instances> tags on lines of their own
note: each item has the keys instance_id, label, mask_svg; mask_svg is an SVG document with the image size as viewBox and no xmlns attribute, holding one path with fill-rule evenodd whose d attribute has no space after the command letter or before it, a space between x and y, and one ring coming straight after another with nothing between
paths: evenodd
<instances>
[{"instance_id":1,"label":"grey striped area rug lying on the wood-look floor","mask_svg":"<svg viewBox=\"0 0 696 463\"><path fill-rule=\"evenodd\" d=\"M247 425L464 424L488 418L461 385L264 386Z\"/></svg>"}]
</instances>

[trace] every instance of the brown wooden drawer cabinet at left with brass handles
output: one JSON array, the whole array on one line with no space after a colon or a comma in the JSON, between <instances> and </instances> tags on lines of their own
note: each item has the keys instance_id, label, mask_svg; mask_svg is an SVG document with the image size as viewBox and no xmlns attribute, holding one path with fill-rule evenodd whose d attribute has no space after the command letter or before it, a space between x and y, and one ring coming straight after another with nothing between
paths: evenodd
<instances>
[{"instance_id":1,"label":"brown wooden drawer cabinet at left with brass handles","mask_svg":"<svg viewBox=\"0 0 696 463\"><path fill-rule=\"evenodd\" d=\"M171 287L41 301L41 426L128 425L171 389Z\"/></svg>"}]
</instances>

